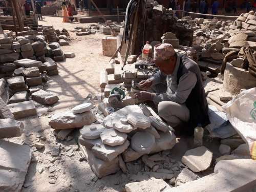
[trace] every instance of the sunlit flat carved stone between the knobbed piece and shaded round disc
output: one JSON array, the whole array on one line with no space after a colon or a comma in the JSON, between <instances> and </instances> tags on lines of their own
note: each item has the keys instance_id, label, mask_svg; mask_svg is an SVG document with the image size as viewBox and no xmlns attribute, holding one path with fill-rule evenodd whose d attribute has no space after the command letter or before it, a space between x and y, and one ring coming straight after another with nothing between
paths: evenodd
<instances>
[{"instance_id":1,"label":"sunlit flat carved stone between the knobbed piece and shaded round disc","mask_svg":"<svg viewBox=\"0 0 256 192\"><path fill-rule=\"evenodd\" d=\"M114 129L106 129L100 134L102 142L106 145L117 146L124 143L127 134L120 133Z\"/></svg>"}]
</instances>

